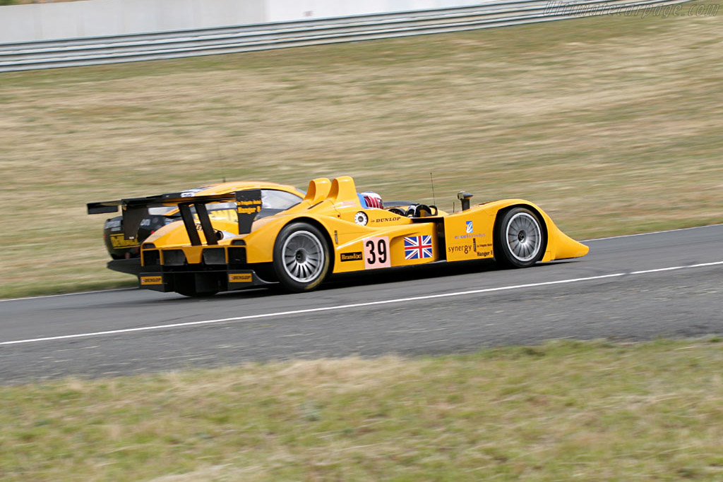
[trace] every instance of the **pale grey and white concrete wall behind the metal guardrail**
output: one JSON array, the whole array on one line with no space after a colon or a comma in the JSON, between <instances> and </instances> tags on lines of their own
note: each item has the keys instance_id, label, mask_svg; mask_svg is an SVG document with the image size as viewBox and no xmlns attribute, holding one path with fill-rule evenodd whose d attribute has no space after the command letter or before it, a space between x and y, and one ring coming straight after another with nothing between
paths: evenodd
<instances>
[{"instance_id":1,"label":"pale grey and white concrete wall behind the metal guardrail","mask_svg":"<svg viewBox=\"0 0 723 482\"><path fill-rule=\"evenodd\" d=\"M479 0L83 0L0 7L0 43L461 7Z\"/></svg>"}]
</instances>

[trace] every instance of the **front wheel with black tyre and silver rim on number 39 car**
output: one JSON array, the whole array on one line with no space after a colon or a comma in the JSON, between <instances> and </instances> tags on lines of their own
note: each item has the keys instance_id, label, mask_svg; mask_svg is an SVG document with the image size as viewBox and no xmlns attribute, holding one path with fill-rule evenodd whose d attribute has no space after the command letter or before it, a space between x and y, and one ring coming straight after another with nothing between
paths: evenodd
<instances>
[{"instance_id":1,"label":"front wheel with black tyre and silver rim on number 39 car","mask_svg":"<svg viewBox=\"0 0 723 482\"><path fill-rule=\"evenodd\" d=\"M547 245L543 222L526 207L502 213L495 232L495 261L501 267L526 268L544 256Z\"/></svg>"}]
</instances>

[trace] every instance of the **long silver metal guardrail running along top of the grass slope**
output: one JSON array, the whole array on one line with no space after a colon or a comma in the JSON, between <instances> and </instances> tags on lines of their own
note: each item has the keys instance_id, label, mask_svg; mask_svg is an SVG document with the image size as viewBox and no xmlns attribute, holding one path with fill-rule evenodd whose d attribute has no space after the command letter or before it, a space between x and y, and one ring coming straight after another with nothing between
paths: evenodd
<instances>
[{"instance_id":1,"label":"long silver metal guardrail running along top of the grass slope","mask_svg":"<svg viewBox=\"0 0 723 482\"><path fill-rule=\"evenodd\" d=\"M662 7L688 0L513 0L471 7L112 37L0 43L0 72L270 50L460 32ZM555 8L557 7L557 8ZM574 13L572 13L574 12Z\"/></svg>"}]
</instances>

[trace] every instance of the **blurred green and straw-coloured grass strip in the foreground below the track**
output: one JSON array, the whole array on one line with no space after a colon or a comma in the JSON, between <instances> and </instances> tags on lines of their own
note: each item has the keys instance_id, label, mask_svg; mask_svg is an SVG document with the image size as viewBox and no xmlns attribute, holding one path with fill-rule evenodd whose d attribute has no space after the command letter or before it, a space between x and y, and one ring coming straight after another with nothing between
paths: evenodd
<instances>
[{"instance_id":1,"label":"blurred green and straw-coloured grass strip in the foreground below the track","mask_svg":"<svg viewBox=\"0 0 723 482\"><path fill-rule=\"evenodd\" d=\"M719 338L0 387L4 481L723 478ZM717 367L717 368L716 368Z\"/></svg>"}]
</instances>

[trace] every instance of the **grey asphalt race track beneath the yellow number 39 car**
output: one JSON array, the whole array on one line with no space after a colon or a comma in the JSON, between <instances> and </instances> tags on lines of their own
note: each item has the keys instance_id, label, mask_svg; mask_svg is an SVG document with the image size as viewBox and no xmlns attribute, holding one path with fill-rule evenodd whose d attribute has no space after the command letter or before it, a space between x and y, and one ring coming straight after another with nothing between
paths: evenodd
<instances>
[{"instance_id":1,"label":"grey asphalt race track beneath the yellow number 39 car","mask_svg":"<svg viewBox=\"0 0 723 482\"><path fill-rule=\"evenodd\" d=\"M526 270L441 264L345 275L304 294L127 289L0 301L0 382L723 334L723 225L586 244L586 257Z\"/></svg>"}]
</instances>

